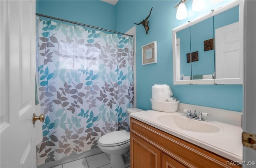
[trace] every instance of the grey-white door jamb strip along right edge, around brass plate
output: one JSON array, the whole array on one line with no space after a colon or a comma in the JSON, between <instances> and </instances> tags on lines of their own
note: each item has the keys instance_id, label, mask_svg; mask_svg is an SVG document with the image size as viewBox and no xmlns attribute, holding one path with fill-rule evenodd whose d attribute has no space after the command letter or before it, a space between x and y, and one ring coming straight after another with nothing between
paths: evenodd
<instances>
[{"instance_id":1,"label":"grey-white door jamb strip along right edge, around brass plate","mask_svg":"<svg viewBox=\"0 0 256 168\"><path fill-rule=\"evenodd\" d=\"M245 1L243 131L256 134L256 1ZM256 144L254 144L255 146ZM253 145L252 145L253 146ZM243 147L243 168L256 167L256 150Z\"/></svg>"}]
</instances>

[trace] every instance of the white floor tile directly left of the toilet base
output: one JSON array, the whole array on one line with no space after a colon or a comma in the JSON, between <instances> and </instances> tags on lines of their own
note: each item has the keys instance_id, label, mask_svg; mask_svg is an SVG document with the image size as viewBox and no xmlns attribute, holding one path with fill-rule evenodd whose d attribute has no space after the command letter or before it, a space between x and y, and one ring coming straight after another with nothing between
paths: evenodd
<instances>
[{"instance_id":1,"label":"white floor tile directly left of the toilet base","mask_svg":"<svg viewBox=\"0 0 256 168\"><path fill-rule=\"evenodd\" d=\"M98 168L110 164L110 159L105 153L96 154L86 158L89 168Z\"/></svg>"}]
</instances>

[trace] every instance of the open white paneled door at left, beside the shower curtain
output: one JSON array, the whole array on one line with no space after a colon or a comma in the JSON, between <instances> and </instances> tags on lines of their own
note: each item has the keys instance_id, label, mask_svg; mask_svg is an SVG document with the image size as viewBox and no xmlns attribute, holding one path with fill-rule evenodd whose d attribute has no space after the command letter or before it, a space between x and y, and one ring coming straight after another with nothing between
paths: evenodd
<instances>
[{"instance_id":1,"label":"open white paneled door at left, beside the shower curtain","mask_svg":"<svg viewBox=\"0 0 256 168\"><path fill-rule=\"evenodd\" d=\"M34 0L0 1L1 168L36 167L35 9Z\"/></svg>"}]
</instances>

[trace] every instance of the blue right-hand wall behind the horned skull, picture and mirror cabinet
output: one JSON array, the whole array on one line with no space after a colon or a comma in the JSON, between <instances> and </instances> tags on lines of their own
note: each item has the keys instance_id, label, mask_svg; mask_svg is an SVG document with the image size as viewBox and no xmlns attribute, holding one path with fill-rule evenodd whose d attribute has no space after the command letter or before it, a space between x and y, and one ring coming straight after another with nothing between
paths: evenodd
<instances>
[{"instance_id":1,"label":"blue right-hand wall behind the horned skull, picture and mirror cabinet","mask_svg":"<svg viewBox=\"0 0 256 168\"><path fill-rule=\"evenodd\" d=\"M173 85L172 29L228 3L223 1L211 4L211 1L206 0L204 10L193 12L192 0L188 0L188 18L176 20L174 6L178 2L179 0L120 0L116 4L118 32L126 32L134 26L133 23L145 19L153 7L148 34L142 25L136 26L137 107L151 109L151 87L154 84L168 84L174 97L181 103L242 111L242 85ZM142 65L141 46L153 41L157 41L157 63Z\"/></svg>"}]
</instances>

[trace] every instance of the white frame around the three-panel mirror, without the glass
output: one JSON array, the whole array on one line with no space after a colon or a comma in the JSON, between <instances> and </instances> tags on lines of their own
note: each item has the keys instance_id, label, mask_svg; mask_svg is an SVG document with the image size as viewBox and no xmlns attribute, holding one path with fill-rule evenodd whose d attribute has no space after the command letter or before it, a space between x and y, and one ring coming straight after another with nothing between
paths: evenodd
<instances>
[{"instance_id":1,"label":"white frame around the three-panel mirror, without the glass","mask_svg":"<svg viewBox=\"0 0 256 168\"><path fill-rule=\"evenodd\" d=\"M180 57L177 56L177 41L176 32L188 28L194 24L197 24L203 20L214 17L221 12L239 6L239 38L240 38L240 74L239 78L222 78L222 79L197 79L197 80L180 80ZM215 38L215 37L214 37ZM214 40L215 43L215 40ZM214 44L215 45L215 44ZM244 73L244 0L236 0L220 7L213 12L209 12L191 22L178 26L172 30L172 49L173 49L173 83L174 85L214 85L214 84L243 84L243 73ZM214 52L215 53L215 52ZM215 57L215 55L214 55Z\"/></svg>"}]
</instances>

